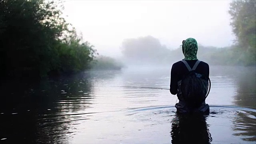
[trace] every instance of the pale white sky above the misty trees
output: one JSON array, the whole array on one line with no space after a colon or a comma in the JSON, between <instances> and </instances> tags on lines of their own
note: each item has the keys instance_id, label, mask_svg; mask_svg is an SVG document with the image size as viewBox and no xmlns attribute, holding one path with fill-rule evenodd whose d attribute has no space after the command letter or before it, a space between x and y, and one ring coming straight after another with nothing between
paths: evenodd
<instances>
[{"instance_id":1,"label":"pale white sky above the misty trees","mask_svg":"<svg viewBox=\"0 0 256 144\"><path fill-rule=\"evenodd\" d=\"M235 39L230 0L65 0L63 14L102 55L120 56L126 38L153 36L170 49L195 38L226 47Z\"/></svg>"}]
</instances>

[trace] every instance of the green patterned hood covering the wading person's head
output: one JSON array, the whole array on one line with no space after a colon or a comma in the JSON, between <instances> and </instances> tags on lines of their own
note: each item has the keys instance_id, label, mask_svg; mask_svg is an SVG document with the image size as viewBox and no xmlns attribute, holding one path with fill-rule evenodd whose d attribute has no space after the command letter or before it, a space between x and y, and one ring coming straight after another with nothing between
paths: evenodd
<instances>
[{"instance_id":1,"label":"green patterned hood covering the wading person's head","mask_svg":"<svg viewBox=\"0 0 256 144\"><path fill-rule=\"evenodd\" d=\"M197 60L198 46L194 38L186 39L182 44L182 51L185 56L183 60Z\"/></svg>"}]
</instances>

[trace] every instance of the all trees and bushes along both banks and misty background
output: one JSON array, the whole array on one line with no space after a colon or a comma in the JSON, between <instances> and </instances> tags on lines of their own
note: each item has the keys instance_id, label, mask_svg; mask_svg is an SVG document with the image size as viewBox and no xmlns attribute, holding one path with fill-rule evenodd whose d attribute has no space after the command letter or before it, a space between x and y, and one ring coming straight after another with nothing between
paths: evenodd
<instances>
[{"instance_id":1,"label":"all trees and bushes along both banks and misty background","mask_svg":"<svg viewBox=\"0 0 256 144\"><path fill-rule=\"evenodd\" d=\"M42 79L84 70L120 70L126 64L168 64L184 58L152 36L122 42L123 58L99 55L62 18L60 0L0 0L1 80ZM226 48L198 45L198 59L212 65L256 65L256 1L230 3L236 43Z\"/></svg>"}]
</instances>

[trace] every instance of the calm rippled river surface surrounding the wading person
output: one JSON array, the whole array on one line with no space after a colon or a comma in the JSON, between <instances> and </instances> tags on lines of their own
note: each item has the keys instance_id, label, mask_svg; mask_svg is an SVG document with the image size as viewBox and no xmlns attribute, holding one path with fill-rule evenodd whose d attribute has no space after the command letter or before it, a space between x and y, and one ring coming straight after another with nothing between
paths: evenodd
<instances>
[{"instance_id":1,"label":"calm rippled river surface surrounding the wading person","mask_svg":"<svg viewBox=\"0 0 256 144\"><path fill-rule=\"evenodd\" d=\"M1 86L0 143L256 143L256 68L211 67L208 116L180 116L170 68L88 71Z\"/></svg>"}]
</instances>

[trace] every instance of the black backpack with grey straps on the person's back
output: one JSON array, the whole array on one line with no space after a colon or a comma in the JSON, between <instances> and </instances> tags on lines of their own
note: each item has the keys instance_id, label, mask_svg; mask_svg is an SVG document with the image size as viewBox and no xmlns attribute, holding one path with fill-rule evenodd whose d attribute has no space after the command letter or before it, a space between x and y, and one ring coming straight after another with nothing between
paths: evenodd
<instances>
[{"instance_id":1,"label":"black backpack with grey straps on the person's back","mask_svg":"<svg viewBox=\"0 0 256 144\"><path fill-rule=\"evenodd\" d=\"M210 78L195 72L200 61L190 68L186 60L182 60L189 73L182 79L181 92L183 100L189 107L199 107L210 92Z\"/></svg>"}]
</instances>

